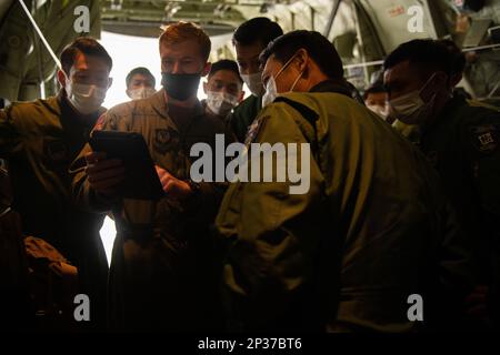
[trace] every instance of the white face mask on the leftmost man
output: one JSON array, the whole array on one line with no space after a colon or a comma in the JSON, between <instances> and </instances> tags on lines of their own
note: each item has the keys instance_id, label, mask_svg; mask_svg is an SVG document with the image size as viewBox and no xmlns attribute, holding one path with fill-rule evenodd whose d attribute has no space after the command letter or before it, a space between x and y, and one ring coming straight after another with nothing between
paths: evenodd
<instances>
[{"instance_id":1,"label":"white face mask on the leftmost man","mask_svg":"<svg viewBox=\"0 0 500 355\"><path fill-rule=\"evenodd\" d=\"M73 83L70 80L67 81L66 88L68 100L81 114L99 111L102 102L104 102L107 91L107 89L98 85Z\"/></svg>"}]
</instances>

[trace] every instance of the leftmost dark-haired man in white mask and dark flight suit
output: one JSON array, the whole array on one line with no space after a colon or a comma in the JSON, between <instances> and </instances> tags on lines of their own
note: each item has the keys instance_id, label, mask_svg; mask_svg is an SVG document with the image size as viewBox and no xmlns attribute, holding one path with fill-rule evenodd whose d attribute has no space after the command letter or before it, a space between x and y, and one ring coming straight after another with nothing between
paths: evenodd
<instances>
[{"instance_id":1,"label":"leftmost dark-haired man in white mask and dark flight suit","mask_svg":"<svg viewBox=\"0 0 500 355\"><path fill-rule=\"evenodd\" d=\"M48 241L78 267L80 293L91 301L90 322L106 325L108 262L99 235L103 217L78 209L71 196L70 163L89 139L111 84L112 60L94 39L66 47L57 97L14 102L0 111L0 158L8 162L12 209L22 232Z\"/></svg>"}]
</instances>

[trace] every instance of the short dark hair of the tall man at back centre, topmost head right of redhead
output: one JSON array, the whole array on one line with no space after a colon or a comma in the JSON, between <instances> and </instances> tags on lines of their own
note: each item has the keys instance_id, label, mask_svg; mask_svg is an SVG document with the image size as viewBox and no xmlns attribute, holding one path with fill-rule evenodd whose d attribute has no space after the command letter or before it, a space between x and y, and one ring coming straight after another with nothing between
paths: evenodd
<instances>
[{"instance_id":1,"label":"short dark hair of the tall man at back centre, topmost head right of redhead","mask_svg":"<svg viewBox=\"0 0 500 355\"><path fill-rule=\"evenodd\" d=\"M281 27L268 18L253 18L241 23L232 34L232 44L250 45L260 42L263 47L283 34Z\"/></svg>"}]
</instances>

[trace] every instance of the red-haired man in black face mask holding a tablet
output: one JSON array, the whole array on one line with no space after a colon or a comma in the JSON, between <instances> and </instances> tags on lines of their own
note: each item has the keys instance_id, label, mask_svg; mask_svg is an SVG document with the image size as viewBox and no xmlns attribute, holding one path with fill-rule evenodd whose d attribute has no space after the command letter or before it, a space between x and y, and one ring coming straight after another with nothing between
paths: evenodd
<instances>
[{"instance_id":1,"label":"red-haired man in black face mask holding a tablet","mask_svg":"<svg viewBox=\"0 0 500 355\"><path fill-rule=\"evenodd\" d=\"M210 39L190 22L176 22L159 39L163 89L110 109L101 129L143 135L164 195L124 199L121 162L89 145L73 163L77 201L97 213L112 211L117 237L110 267L110 322L114 329L186 331L220 326L218 263L210 240L226 185L190 179L191 146L216 150L226 125L197 99L210 71ZM229 138L226 138L227 141Z\"/></svg>"}]
</instances>

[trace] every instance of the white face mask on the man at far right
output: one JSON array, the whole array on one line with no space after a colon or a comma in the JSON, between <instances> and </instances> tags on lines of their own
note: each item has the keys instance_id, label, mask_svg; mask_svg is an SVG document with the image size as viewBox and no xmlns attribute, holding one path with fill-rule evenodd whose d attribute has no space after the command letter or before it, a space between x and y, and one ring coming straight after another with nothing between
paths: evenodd
<instances>
[{"instance_id":1,"label":"white face mask on the man at far right","mask_svg":"<svg viewBox=\"0 0 500 355\"><path fill-rule=\"evenodd\" d=\"M389 114L407 124L421 124L426 121L432 112L436 94L432 95L429 102L424 102L420 93L424 91L433 77L434 74L429 78L420 90L413 90L398 99L389 100Z\"/></svg>"}]
</instances>

